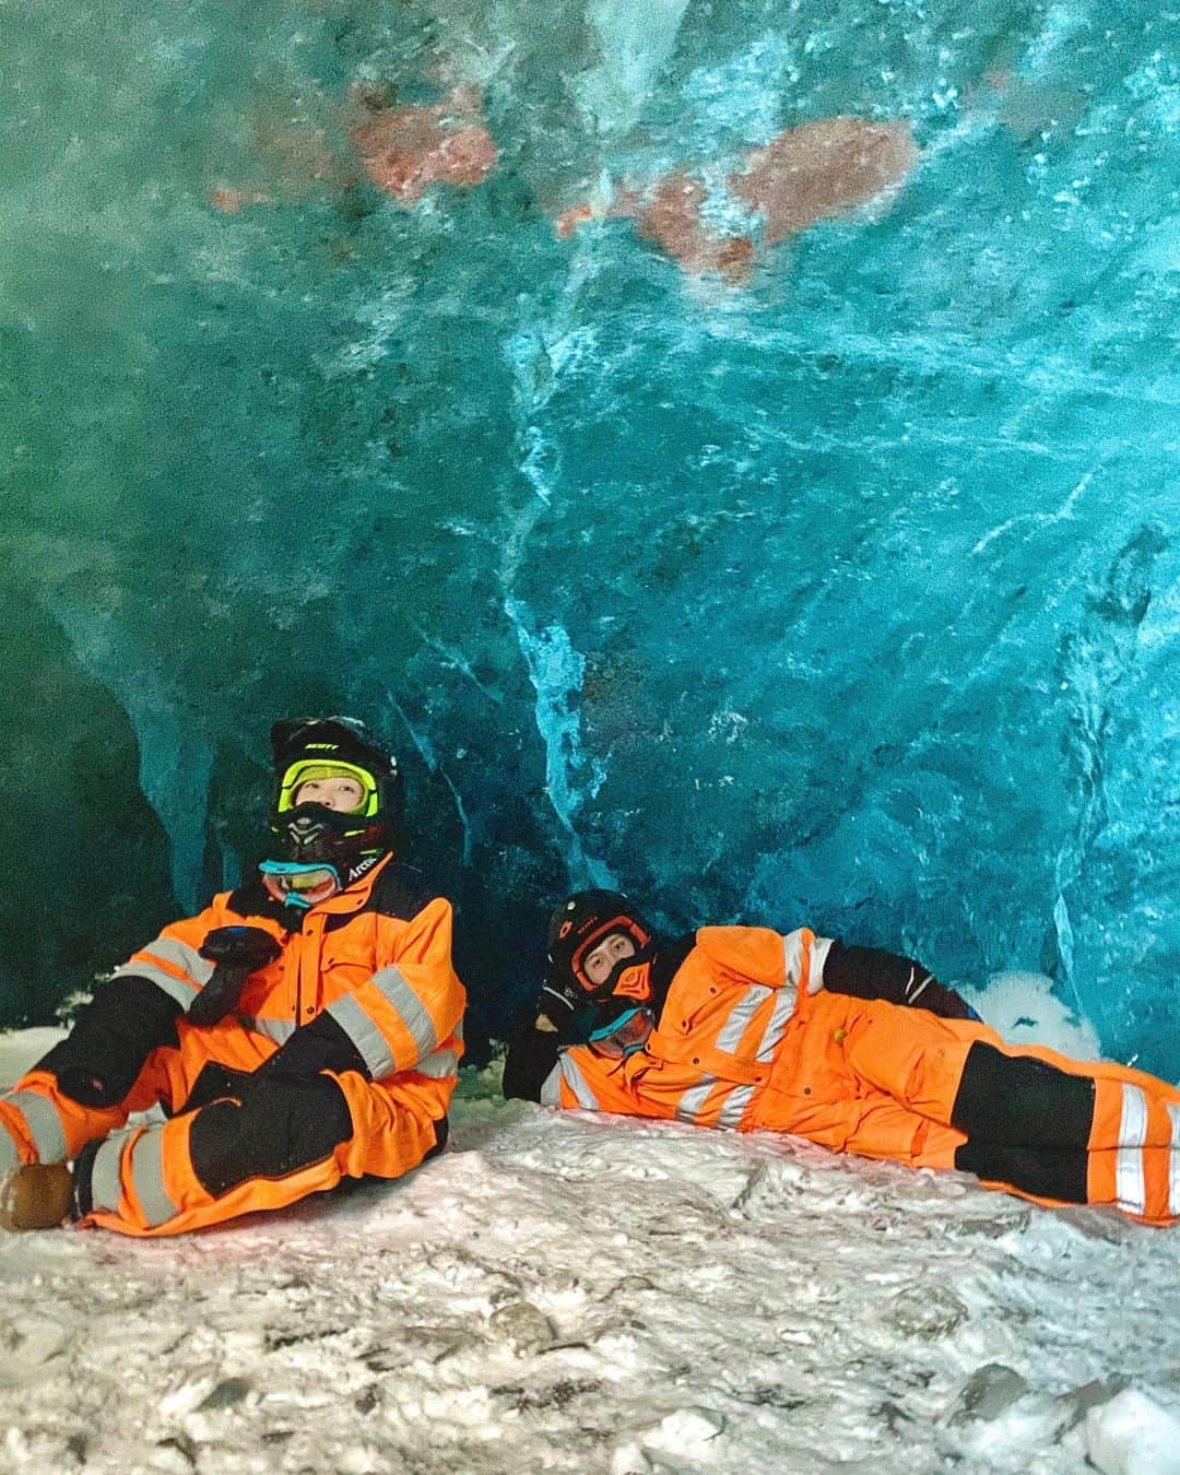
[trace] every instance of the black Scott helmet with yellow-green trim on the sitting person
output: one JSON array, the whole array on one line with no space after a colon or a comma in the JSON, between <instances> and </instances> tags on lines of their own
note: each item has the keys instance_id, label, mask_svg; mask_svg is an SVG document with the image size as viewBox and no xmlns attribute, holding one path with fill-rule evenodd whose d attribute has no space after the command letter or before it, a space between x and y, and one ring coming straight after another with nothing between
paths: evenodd
<instances>
[{"instance_id":1,"label":"black Scott helmet with yellow-green trim on the sitting person","mask_svg":"<svg viewBox=\"0 0 1180 1475\"><path fill-rule=\"evenodd\" d=\"M363 875L392 844L401 819L397 758L354 717L299 717L270 729L274 801L270 832L277 860L335 866L341 882ZM324 804L296 804L313 779L350 777L361 802L342 814Z\"/></svg>"}]
</instances>

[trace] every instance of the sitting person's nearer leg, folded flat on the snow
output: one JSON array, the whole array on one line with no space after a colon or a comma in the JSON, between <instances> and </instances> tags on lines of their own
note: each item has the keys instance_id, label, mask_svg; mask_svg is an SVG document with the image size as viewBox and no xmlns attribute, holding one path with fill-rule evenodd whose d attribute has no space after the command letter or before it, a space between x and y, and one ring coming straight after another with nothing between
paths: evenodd
<instances>
[{"instance_id":1,"label":"sitting person's nearer leg, folded flat on the snow","mask_svg":"<svg viewBox=\"0 0 1180 1475\"><path fill-rule=\"evenodd\" d=\"M78 1164L83 1223L124 1235L178 1235L283 1208L342 1177L398 1177L442 1140L413 1100L354 1072L274 1078L115 1134Z\"/></svg>"}]
</instances>

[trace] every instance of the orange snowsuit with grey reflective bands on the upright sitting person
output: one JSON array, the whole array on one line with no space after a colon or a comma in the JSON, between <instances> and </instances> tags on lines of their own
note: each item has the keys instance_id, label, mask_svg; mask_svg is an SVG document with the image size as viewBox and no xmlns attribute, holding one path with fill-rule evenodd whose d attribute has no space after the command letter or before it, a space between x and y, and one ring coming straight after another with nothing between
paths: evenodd
<instances>
[{"instance_id":1,"label":"orange snowsuit with grey reflective bands on the upright sitting person","mask_svg":"<svg viewBox=\"0 0 1180 1475\"><path fill-rule=\"evenodd\" d=\"M0 1146L12 1152L12 1142L22 1162L60 1162L100 1139L83 1223L127 1235L176 1235L280 1208L342 1177L416 1167L444 1140L466 996L451 966L450 903L425 900L407 872L386 857L301 917L243 886L164 928L99 993L121 981L136 981L143 997L149 985L162 990L178 1006L170 1041L117 1099L97 1078L91 1092L84 1068L81 1086L77 1071L63 1075L59 1046L0 1097ZM201 945L236 923L268 932L279 957L246 979L230 1015L198 1028L186 1013L212 975ZM245 1080L282 1063L280 1047L308 1038L301 1027L323 1015L348 1068L277 1074L257 1087ZM206 1099L186 1109L193 1093ZM130 1114L158 1105L168 1120L125 1128Z\"/></svg>"}]
</instances>

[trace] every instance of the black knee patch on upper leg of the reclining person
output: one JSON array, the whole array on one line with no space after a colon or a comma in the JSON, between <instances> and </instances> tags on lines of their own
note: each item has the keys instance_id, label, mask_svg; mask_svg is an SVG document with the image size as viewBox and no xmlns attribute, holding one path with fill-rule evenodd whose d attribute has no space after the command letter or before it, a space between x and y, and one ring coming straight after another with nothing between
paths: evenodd
<instances>
[{"instance_id":1,"label":"black knee patch on upper leg of the reclining person","mask_svg":"<svg viewBox=\"0 0 1180 1475\"><path fill-rule=\"evenodd\" d=\"M972 1142L1084 1152L1094 1120L1094 1083L1047 1061L974 1044L950 1120Z\"/></svg>"}]
</instances>

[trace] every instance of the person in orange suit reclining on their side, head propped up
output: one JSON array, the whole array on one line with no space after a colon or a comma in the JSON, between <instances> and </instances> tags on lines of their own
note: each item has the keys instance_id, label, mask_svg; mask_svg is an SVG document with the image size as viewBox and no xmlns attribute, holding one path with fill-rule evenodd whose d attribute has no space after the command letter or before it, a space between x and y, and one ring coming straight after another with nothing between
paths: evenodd
<instances>
[{"instance_id":1,"label":"person in orange suit reclining on their side, head propped up","mask_svg":"<svg viewBox=\"0 0 1180 1475\"><path fill-rule=\"evenodd\" d=\"M1180 1217L1180 1090L1006 1044L910 959L807 928L665 944L625 897L584 891L553 913L549 962L509 1041L506 1096L785 1131L1040 1204ZM568 1044L587 1006L596 1027Z\"/></svg>"}]
</instances>

